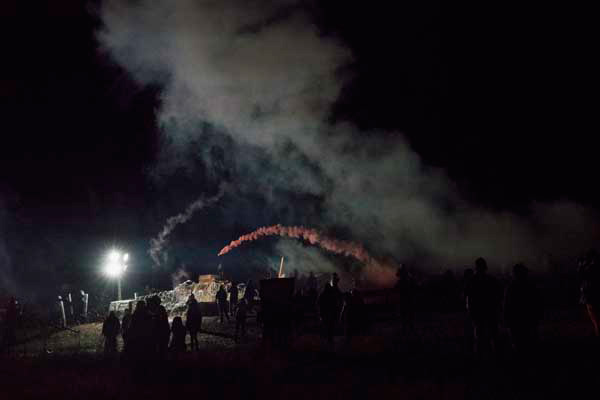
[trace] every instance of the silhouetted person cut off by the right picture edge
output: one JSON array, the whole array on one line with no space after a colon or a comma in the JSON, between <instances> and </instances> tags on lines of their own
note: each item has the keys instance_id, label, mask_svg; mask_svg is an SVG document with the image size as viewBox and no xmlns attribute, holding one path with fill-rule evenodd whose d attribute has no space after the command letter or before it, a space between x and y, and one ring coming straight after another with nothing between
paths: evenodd
<instances>
[{"instance_id":1,"label":"silhouetted person cut off by the right picture edge","mask_svg":"<svg viewBox=\"0 0 600 400\"><path fill-rule=\"evenodd\" d=\"M600 256L595 250L590 250L579 263L581 280L580 301L594 327L594 335L600 337Z\"/></svg>"}]
</instances>

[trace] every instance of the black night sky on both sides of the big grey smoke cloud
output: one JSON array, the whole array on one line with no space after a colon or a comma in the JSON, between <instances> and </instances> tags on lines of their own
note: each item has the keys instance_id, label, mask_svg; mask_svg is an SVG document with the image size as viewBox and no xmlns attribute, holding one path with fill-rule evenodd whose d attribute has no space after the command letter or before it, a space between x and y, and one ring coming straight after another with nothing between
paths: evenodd
<instances>
[{"instance_id":1,"label":"black night sky on both sides of the big grey smoke cloud","mask_svg":"<svg viewBox=\"0 0 600 400\"><path fill-rule=\"evenodd\" d=\"M99 50L96 3L0 6L0 216L19 279L27 268L44 271L39 263L67 271L116 240L146 257L144 243L194 197L182 189L183 200L173 199L177 177L166 187L149 179L160 88L136 83ZM323 34L355 56L339 72L353 78L331 118L365 135L404 133L476 204L595 207L591 13L549 7L314 3Z\"/></svg>"}]
</instances>

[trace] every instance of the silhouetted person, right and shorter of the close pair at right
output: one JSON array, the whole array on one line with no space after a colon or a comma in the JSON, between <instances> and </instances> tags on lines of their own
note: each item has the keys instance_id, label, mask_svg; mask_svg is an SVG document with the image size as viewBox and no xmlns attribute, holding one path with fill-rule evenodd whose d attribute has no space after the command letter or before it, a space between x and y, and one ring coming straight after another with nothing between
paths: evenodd
<instances>
[{"instance_id":1,"label":"silhouetted person, right and shorter of the close pair at right","mask_svg":"<svg viewBox=\"0 0 600 400\"><path fill-rule=\"evenodd\" d=\"M540 317L537 290L529 280L527 268L517 264L513 267L513 280L504 296L504 320L518 353L525 353L535 345Z\"/></svg>"}]
</instances>

